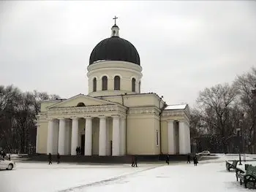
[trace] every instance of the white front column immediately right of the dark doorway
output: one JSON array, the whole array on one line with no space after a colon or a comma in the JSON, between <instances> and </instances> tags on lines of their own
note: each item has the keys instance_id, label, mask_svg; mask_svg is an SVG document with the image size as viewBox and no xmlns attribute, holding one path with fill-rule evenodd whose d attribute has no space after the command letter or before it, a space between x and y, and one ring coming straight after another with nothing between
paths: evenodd
<instances>
[{"instance_id":1,"label":"white front column immediately right of the dark doorway","mask_svg":"<svg viewBox=\"0 0 256 192\"><path fill-rule=\"evenodd\" d=\"M92 126L91 118L86 118L86 131L85 131L85 142L84 142L84 155L91 155L92 150Z\"/></svg>"}]
</instances>

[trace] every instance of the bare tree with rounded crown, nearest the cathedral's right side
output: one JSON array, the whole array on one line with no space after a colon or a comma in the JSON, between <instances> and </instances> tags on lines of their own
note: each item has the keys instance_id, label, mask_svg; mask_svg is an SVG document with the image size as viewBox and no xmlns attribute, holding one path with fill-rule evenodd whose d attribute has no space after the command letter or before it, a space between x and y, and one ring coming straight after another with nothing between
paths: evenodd
<instances>
[{"instance_id":1,"label":"bare tree with rounded crown, nearest the cathedral's right side","mask_svg":"<svg viewBox=\"0 0 256 192\"><path fill-rule=\"evenodd\" d=\"M230 109L234 106L238 91L233 85L215 85L201 91L197 99L200 118L210 128L211 134L218 135L222 150L227 151L227 141L234 134L230 126Z\"/></svg>"}]
</instances>

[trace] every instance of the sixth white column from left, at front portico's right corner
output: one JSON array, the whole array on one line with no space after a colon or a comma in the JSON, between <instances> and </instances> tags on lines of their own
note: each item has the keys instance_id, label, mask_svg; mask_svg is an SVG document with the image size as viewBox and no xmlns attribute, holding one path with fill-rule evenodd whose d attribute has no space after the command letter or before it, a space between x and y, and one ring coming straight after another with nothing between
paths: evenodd
<instances>
[{"instance_id":1,"label":"sixth white column from left, at front portico's right corner","mask_svg":"<svg viewBox=\"0 0 256 192\"><path fill-rule=\"evenodd\" d=\"M113 132L112 132L112 155L120 155L120 118L119 116L113 117Z\"/></svg>"}]
</instances>

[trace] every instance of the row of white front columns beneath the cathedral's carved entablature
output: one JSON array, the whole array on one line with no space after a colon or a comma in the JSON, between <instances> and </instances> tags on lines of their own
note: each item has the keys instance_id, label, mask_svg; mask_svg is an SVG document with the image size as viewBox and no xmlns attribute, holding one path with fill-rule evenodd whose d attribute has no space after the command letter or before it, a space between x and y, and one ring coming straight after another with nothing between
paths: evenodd
<instances>
[{"instance_id":1,"label":"row of white front columns beneath the cathedral's carved entablature","mask_svg":"<svg viewBox=\"0 0 256 192\"><path fill-rule=\"evenodd\" d=\"M108 125L107 118L112 120L112 122L108 120ZM70 121L72 123L69 123ZM124 121L124 117L117 115L113 117L99 116L99 128L97 129L97 118L93 117L48 119L47 153L77 155L76 148L80 147L84 149L84 155L124 155L126 150ZM79 131L79 124L84 126L83 131ZM110 126L111 124L113 126ZM98 130L98 133L95 133L97 130L94 131L94 128ZM85 140L84 143L81 143L79 138L83 135ZM94 142L93 137L95 138ZM58 142L56 142L56 138L58 138ZM98 146L98 149L93 148L93 143Z\"/></svg>"}]
</instances>

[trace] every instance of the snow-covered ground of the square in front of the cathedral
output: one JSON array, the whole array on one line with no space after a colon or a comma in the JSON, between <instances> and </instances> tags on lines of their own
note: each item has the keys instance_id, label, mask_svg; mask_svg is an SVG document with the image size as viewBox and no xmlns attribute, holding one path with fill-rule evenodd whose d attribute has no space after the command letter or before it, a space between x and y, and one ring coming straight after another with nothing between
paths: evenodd
<instances>
[{"instance_id":1,"label":"snow-covered ground of the square in front of the cathedral","mask_svg":"<svg viewBox=\"0 0 256 192\"><path fill-rule=\"evenodd\" d=\"M163 164L83 165L18 162L15 170L0 171L1 192L52 191L174 191L241 192L248 191L236 181L235 172L227 172L230 155L200 161ZM237 159L237 155L233 156ZM252 156L246 157L252 160ZM249 164L256 165L256 161ZM243 166L244 168L244 162Z\"/></svg>"}]
</instances>

